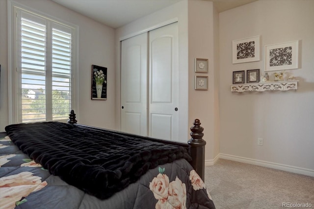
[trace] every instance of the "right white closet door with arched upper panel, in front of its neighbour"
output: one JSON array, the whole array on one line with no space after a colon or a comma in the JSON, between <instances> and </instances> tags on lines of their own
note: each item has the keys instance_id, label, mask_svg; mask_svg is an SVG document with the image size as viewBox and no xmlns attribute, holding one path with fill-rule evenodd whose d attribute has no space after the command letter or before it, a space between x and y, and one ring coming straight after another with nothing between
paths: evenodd
<instances>
[{"instance_id":1,"label":"right white closet door with arched upper panel, in front of its neighbour","mask_svg":"<svg viewBox=\"0 0 314 209\"><path fill-rule=\"evenodd\" d=\"M149 136L178 141L178 23L149 32Z\"/></svg>"}]
</instances>

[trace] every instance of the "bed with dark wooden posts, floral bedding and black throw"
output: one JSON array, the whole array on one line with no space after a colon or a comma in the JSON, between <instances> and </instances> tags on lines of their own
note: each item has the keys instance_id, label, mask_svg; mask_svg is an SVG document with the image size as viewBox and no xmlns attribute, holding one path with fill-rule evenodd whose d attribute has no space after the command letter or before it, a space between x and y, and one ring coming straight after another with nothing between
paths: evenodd
<instances>
[{"instance_id":1,"label":"bed with dark wooden posts, floral bedding and black throw","mask_svg":"<svg viewBox=\"0 0 314 209\"><path fill-rule=\"evenodd\" d=\"M203 128L188 143L68 123L0 133L1 209L214 209Z\"/></svg>"}]
</instances>

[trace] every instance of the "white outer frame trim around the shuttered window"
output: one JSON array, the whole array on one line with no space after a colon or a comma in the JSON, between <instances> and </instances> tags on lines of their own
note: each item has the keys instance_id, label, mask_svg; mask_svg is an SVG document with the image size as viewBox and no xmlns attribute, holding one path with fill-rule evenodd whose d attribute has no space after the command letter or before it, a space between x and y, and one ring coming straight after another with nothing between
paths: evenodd
<instances>
[{"instance_id":1,"label":"white outer frame trim around the shuttered window","mask_svg":"<svg viewBox=\"0 0 314 209\"><path fill-rule=\"evenodd\" d=\"M29 13L31 15L44 18L46 20L52 21L52 23L57 23L66 27L71 27L72 39L72 65L71 65L71 109L74 109L77 113L78 110L78 34L79 28L74 24L70 24L66 21L60 20L56 17L43 14L40 11L36 11L33 8L29 8L23 4L17 3L13 0L8 0L8 115L9 115L9 124L22 123L22 111L20 107L20 100L22 97L21 86L21 73L18 72L17 64L20 58L17 56L17 10L22 10L23 12ZM49 52L51 54L51 52ZM50 93L51 94L51 93ZM47 113L46 113L47 114ZM48 120L46 121L52 121ZM78 118L77 118L78 120ZM66 122L66 119L63 120L53 120Z\"/></svg>"}]
</instances>

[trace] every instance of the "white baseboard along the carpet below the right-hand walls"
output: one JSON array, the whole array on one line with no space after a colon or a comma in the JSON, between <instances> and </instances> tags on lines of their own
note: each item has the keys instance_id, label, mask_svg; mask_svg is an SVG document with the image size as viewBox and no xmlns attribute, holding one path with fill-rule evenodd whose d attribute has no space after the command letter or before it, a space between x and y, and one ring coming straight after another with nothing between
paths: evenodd
<instances>
[{"instance_id":1,"label":"white baseboard along the carpet below the right-hand walls","mask_svg":"<svg viewBox=\"0 0 314 209\"><path fill-rule=\"evenodd\" d=\"M205 160L205 166L206 165L214 165L215 162L219 159L229 159L237 162L244 162L252 165L259 165L267 168L274 168L278 170L283 170L283 171L288 171L292 173L297 173L297 174L303 174L307 176L312 176L314 177L314 170L312 169L307 169L307 168L300 168L300 167L295 167L295 166L290 166L290 165L285 165L285 164L279 164L279 163L274 163L274 162L268 162L268 161L263 161L263 160L258 160L258 159L251 159L247 157L239 157L239 156L233 156L233 155L227 155L227 154L218 154L213 160Z\"/></svg>"}]
</instances>

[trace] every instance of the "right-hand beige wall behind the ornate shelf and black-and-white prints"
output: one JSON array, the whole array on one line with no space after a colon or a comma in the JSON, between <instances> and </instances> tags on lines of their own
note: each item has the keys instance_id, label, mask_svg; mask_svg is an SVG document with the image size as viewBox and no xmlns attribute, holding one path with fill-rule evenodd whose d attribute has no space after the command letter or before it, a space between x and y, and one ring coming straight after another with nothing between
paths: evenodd
<instances>
[{"instance_id":1,"label":"right-hand beige wall behind the ornate shelf and black-and-white prints","mask_svg":"<svg viewBox=\"0 0 314 209\"><path fill-rule=\"evenodd\" d=\"M259 0L219 15L220 153L314 169L314 1ZM232 64L232 40L261 35L261 61ZM264 45L300 40L298 89L231 93L232 72L260 69ZM273 73L270 73L273 80ZM263 138L263 146L257 139Z\"/></svg>"}]
</instances>

